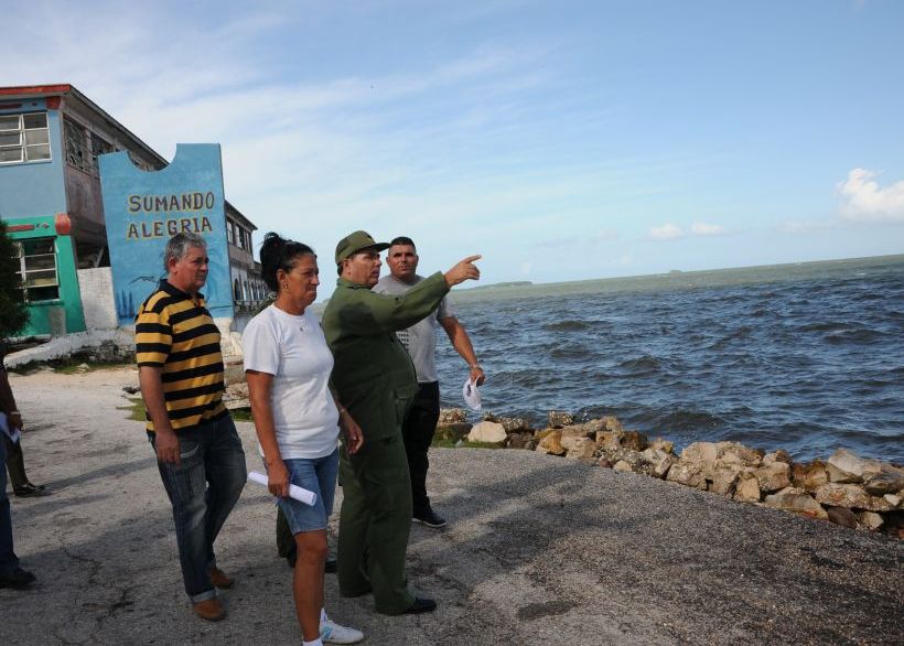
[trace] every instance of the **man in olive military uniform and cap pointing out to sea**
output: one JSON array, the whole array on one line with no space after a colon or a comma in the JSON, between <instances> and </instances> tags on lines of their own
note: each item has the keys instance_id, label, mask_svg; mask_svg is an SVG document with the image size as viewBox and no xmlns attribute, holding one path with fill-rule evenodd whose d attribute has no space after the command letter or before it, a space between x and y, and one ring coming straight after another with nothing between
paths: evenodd
<instances>
[{"instance_id":1,"label":"man in olive military uniform and cap pointing out to sea","mask_svg":"<svg viewBox=\"0 0 904 646\"><path fill-rule=\"evenodd\" d=\"M379 252L388 247L365 232L338 241L340 278L323 312L323 332L335 362L337 398L364 433L357 453L340 453L340 592L373 592L377 612L397 615L430 612L437 603L416 596L405 575L411 484L401 426L418 380L395 332L430 314L453 286L478 279L474 261L480 256L423 279L405 294L384 295L370 288L379 280Z\"/></svg>"}]
</instances>

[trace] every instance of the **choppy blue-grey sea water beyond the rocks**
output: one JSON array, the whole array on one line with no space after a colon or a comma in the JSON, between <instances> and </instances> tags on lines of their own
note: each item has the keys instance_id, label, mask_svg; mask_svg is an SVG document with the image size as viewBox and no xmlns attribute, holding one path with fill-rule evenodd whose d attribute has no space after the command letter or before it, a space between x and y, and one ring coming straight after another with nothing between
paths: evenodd
<instances>
[{"instance_id":1,"label":"choppy blue-grey sea water beyond the rocks","mask_svg":"<svg viewBox=\"0 0 904 646\"><path fill-rule=\"evenodd\" d=\"M455 290L484 411L904 462L904 256ZM443 406L467 370L438 331ZM478 416L472 414L476 421Z\"/></svg>"}]
</instances>

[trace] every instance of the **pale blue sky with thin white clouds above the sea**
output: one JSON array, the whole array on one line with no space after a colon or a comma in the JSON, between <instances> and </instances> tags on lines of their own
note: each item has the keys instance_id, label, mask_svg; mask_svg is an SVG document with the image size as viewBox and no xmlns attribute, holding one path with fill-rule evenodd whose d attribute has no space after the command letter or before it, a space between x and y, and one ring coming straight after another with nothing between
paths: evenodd
<instances>
[{"instance_id":1,"label":"pale blue sky with thin white clouds above the sea","mask_svg":"<svg viewBox=\"0 0 904 646\"><path fill-rule=\"evenodd\" d=\"M904 2L250 4L19 2L0 85L220 142L327 277L357 228L484 282L904 252Z\"/></svg>"}]
</instances>

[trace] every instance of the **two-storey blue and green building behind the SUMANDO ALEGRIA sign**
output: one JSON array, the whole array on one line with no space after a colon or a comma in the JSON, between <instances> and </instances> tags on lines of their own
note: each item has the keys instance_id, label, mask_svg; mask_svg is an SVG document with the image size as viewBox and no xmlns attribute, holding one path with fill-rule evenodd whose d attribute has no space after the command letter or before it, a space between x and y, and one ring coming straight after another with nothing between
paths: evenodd
<instances>
[{"instance_id":1,"label":"two-storey blue and green building behind the SUMANDO ALEGRIA sign","mask_svg":"<svg viewBox=\"0 0 904 646\"><path fill-rule=\"evenodd\" d=\"M24 336L83 332L86 312L88 324L106 320L90 314L108 298L89 293L98 282L86 277L110 265L98 157L115 151L144 171L168 165L72 85L0 87L0 219L19 250ZM251 256L257 227L228 202L226 212L239 311L263 298Z\"/></svg>"}]
</instances>

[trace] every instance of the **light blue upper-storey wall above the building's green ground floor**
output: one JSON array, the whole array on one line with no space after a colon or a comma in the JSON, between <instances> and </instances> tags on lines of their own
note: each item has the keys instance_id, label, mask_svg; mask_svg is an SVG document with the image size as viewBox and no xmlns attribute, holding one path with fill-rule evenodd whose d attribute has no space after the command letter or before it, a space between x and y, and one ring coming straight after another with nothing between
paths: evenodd
<instances>
[{"instance_id":1,"label":"light blue upper-storey wall above the building's green ground floor","mask_svg":"<svg viewBox=\"0 0 904 646\"><path fill-rule=\"evenodd\" d=\"M43 99L21 101L21 108L0 114L43 111ZM26 164L0 164L0 218L43 217L66 212L66 186L63 179L63 137L60 110L47 110L51 159Z\"/></svg>"}]
</instances>

